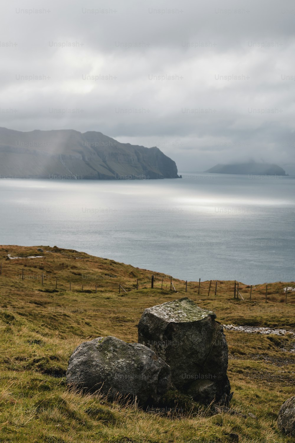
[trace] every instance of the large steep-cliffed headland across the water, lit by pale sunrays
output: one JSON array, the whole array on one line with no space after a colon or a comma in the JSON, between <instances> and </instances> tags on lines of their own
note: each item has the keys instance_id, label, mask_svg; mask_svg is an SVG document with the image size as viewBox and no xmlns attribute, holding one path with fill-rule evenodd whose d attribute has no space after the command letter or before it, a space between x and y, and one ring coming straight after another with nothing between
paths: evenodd
<instances>
[{"instance_id":1,"label":"large steep-cliffed headland across the water, lit by pale sunrays","mask_svg":"<svg viewBox=\"0 0 295 443\"><path fill-rule=\"evenodd\" d=\"M178 178L157 147L119 143L101 132L20 132L0 128L0 177L75 179Z\"/></svg>"}]
</instances>

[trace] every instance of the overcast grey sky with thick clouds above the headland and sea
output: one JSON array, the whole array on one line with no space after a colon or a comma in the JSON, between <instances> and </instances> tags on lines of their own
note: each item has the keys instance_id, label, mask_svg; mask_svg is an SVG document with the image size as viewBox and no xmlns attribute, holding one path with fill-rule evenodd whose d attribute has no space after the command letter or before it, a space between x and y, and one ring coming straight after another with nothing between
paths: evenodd
<instances>
[{"instance_id":1,"label":"overcast grey sky with thick clouds above the headland and sea","mask_svg":"<svg viewBox=\"0 0 295 443\"><path fill-rule=\"evenodd\" d=\"M255 159L295 173L293 1L1 9L0 126L100 131L158 146L179 171Z\"/></svg>"}]
</instances>

